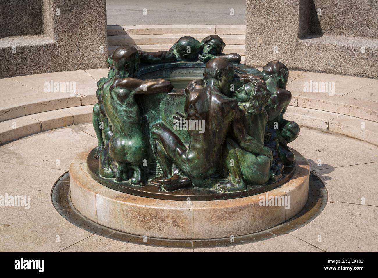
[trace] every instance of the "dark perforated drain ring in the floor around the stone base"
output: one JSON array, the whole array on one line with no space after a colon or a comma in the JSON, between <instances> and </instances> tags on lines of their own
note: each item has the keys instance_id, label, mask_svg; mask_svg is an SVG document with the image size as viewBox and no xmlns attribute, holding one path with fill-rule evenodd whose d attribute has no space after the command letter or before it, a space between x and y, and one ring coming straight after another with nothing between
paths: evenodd
<instances>
[{"instance_id":1,"label":"dark perforated drain ring in the floor around the stone base","mask_svg":"<svg viewBox=\"0 0 378 278\"><path fill-rule=\"evenodd\" d=\"M51 202L57 212L63 216L68 222L75 226L86 230L95 235L104 236L122 242L134 244L155 246L155 247L171 247L171 248L214 248L237 246L248 244L265 239L274 238L280 235L293 232L309 222L313 221L323 210L328 200L328 192L322 183L313 173L310 172L310 182L308 189L308 200L304 208L296 216L288 221L266 229L260 232L248 235L235 236L232 238L215 238L215 239L164 239L152 238L143 235L133 235L111 229L91 221L84 215L79 213L73 206L70 199L70 173L65 172L54 183L51 189Z\"/></svg>"}]
</instances>

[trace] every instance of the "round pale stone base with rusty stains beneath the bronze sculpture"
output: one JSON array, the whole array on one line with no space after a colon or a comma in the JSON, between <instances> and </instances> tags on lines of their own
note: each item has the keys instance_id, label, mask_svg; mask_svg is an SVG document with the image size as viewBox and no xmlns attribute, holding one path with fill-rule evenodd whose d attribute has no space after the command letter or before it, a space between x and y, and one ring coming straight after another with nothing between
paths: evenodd
<instances>
[{"instance_id":1,"label":"round pale stone base with rusty stains beneath the bronze sculpture","mask_svg":"<svg viewBox=\"0 0 378 278\"><path fill-rule=\"evenodd\" d=\"M301 211L308 198L310 169L294 151L296 169L285 184L258 195L217 201L174 201L119 192L88 174L86 162L70 166L71 201L84 216L135 235L167 239L212 239L276 226Z\"/></svg>"}]
</instances>

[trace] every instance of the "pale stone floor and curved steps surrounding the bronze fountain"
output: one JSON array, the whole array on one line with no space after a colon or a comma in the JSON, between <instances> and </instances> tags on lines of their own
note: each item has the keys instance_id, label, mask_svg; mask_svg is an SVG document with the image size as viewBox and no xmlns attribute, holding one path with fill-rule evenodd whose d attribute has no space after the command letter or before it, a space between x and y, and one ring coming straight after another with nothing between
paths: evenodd
<instances>
[{"instance_id":1,"label":"pale stone floor and curved steps surrounding the bronze fountain","mask_svg":"<svg viewBox=\"0 0 378 278\"><path fill-rule=\"evenodd\" d=\"M23 207L0 209L2 219L0 251L378 251L377 244L372 244L376 242L378 236L376 219L378 147L366 142L374 140L378 132L372 125L367 125L366 129L373 135L363 137L365 141L361 141L329 131L330 127L339 126L339 133L344 132L348 135L357 128L353 126L353 119L357 119L359 124L361 121L376 124L374 117L378 108L376 105L378 82L361 77L330 76L310 72L290 73L288 90L293 93L291 103L293 106L290 106L287 112L288 118L293 117L302 125L299 137L290 146L307 159L310 170L325 183L329 195L324 211L309 224L287 235L251 244L219 249L183 250L118 242L70 224L54 209L50 191L54 181L68 170L70 163L85 159L88 151L97 144L90 123L91 108L95 101L93 94L96 80L106 72L106 69L83 70L0 80L2 86L13 84L17 88L14 94L2 93L1 110L8 111L2 115L9 114L12 119L0 122L3 131L0 138L11 139L14 136L16 139L22 136L20 133L11 133L11 128L6 131L6 125L11 127L14 121L24 121L25 130L20 127L19 132L26 132L24 133L26 135L31 131L36 133L47 130L0 147L2 190L9 195L31 196L30 209ZM76 97L69 94L58 97L54 93L43 92L46 79L64 82L74 78L77 80ZM305 94L303 84L308 79L336 81L335 95L340 100L336 111L338 113L318 110L321 107L305 108L306 103L321 103L321 96L328 96L324 93L321 96L319 93L306 93L307 96L301 99ZM350 100L346 98L348 95L350 99L355 100L355 104L351 103L349 110L345 112L343 107L348 105L347 100ZM38 102L41 97L50 99L50 102ZM74 102L72 99L79 102ZM28 100L33 101L28 104ZM5 108L4 103L9 107ZM23 109L17 108L19 107L17 103L19 105L23 103ZM367 107L370 113L366 113L365 116L365 118L370 117L370 120L353 116L351 107L359 107L359 111L362 111L359 113L365 115L363 111L367 108L362 107L361 103L372 105ZM331 107L335 106L331 105ZM43 112L46 109L52 111ZM347 113L349 115L345 115ZM14 119L15 117L17 119ZM346 122L340 120L335 122L335 125L332 124L332 120L342 117L349 117L352 123L348 124L347 118ZM342 123L345 125L342 126ZM39 131L30 129L31 125L36 125ZM51 128L57 129L49 130ZM365 200L364 204L361 204L362 199ZM59 236L58 242L57 236Z\"/></svg>"}]
</instances>

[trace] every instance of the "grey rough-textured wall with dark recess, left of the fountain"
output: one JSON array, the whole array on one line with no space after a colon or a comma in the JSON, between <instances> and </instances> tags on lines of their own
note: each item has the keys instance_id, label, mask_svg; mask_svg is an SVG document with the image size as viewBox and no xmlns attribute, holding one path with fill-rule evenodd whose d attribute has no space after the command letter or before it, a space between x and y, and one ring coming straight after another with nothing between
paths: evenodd
<instances>
[{"instance_id":1,"label":"grey rough-textured wall with dark recess, left of the fountain","mask_svg":"<svg viewBox=\"0 0 378 278\"><path fill-rule=\"evenodd\" d=\"M38 2L17 1L21 14L34 10L30 3L39 7L40 17L33 17L39 29L20 17L0 25L0 34L6 34L0 38L0 78L107 67L106 0ZM9 14L7 7L0 13ZM15 31L9 31L10 22Z\"/></svg>"}]
</instances>

